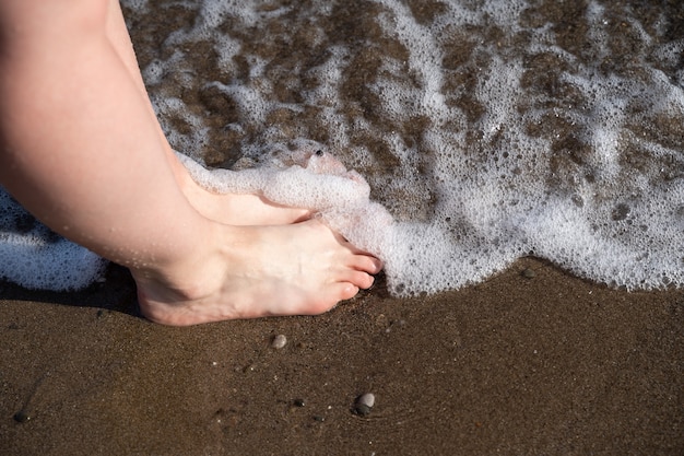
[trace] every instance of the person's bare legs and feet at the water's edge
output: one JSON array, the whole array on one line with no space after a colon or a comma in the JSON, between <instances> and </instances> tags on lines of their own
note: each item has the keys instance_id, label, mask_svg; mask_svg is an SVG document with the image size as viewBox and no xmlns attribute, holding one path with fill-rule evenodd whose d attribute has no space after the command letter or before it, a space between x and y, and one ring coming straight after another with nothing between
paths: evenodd
<instances>
[{"instance_id":1,"label":"person's bare legs and feet at the water's edge","mask_svg":"<svg viewBox=\"0 0 684 456\"><path fill-rule=\"evenodd\" d=\"M69 31L68 33L66 31ZM168 325L319 314L381 264L303 209L213 195L172 153L118 2L0 2L0 182L56 232L128 267Z\"/></svg>"}]
</instances>

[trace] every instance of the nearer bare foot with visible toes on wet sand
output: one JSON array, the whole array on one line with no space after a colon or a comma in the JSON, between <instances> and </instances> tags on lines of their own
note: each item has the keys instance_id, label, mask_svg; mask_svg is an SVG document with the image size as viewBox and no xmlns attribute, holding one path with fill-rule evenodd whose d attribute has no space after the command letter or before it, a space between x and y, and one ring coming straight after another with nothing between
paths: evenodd
<instances>
[{"instance_id":1,"label":"nearer bare foot with visible toes on wet sand","mask_svg":"<svg viewBox=\"0 0 684 456\"><path fill-rule=\"evenodd\" d=\"M163 281L132 271L144 316L186 326L320 314L368 289L372 274L382 267L317 220L281 226L217 225L216 233L213 254L160 271Z\"/></svg>"}]
</instances>

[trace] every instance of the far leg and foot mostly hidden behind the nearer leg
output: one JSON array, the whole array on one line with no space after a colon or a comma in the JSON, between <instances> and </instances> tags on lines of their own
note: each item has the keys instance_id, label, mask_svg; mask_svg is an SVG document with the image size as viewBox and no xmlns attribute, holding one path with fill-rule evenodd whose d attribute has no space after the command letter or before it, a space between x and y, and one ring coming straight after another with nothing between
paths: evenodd
<instances>
[{"instance_id":1,"label":"far leg and foot mostly hidden behind the nearer leg","mask_svg":"<svg viewBox=\"0 0 684 456\"><path fill-rule=\"evenodd\" d=\"M149 102L148 91L138 68L133 45L126 28L126 22L123 21L118 0L109 0L107 36L132 81L135 83L138 91L148 101L146 106L150 116L157 126L166 157L170 163L176 180L185 196L198 211L212 220L233 225L285 224L299 222L310 217L307 210L279 206L257 195L216 195L198 186L190 178L182 164L176 159L161 126L156 121L156 115Z\"/></svg>"}]
</instances>

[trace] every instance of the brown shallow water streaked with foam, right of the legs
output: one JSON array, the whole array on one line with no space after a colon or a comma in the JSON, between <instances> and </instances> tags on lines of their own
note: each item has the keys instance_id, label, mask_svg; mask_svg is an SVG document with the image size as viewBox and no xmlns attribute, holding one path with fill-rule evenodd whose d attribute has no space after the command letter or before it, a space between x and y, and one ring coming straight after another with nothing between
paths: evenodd
<instances>
[{"instance_id":1,"label":"brown shallow water streaked with foam, right of the legs","mask_svg":"<svg viewBox=\"0 0 684 456\"><path fill-rule=\"evenodd\" d=\"M366 206L331 224L386 260L396 294L526 255L684 284L679 1L123 4L174 148L224 168L332 153L394 222Z\"/></svg>"}]
</instances>

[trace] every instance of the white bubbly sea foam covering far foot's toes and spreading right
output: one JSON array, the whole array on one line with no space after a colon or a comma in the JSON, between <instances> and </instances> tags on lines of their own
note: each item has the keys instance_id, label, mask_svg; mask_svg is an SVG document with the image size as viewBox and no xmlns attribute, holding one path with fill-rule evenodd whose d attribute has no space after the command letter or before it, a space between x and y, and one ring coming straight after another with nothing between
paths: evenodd
<instances>
[{"instance_id":1,"label":"white bubbly sea foam covering far foot's toes and spreading right","mask_svg":"<svg viewBox=\"0 0 684 456\"><path fill-rule=\"evenodd\" d=\"M626 17L624 23L640 40L635 51L641 52L638 58L642 59L641 72L627 79L599 69L611 58L610 27L616 19L614 11L595 1L588 4L585 17L590 25L590 51L597 56L589 63L556 43L553 24L522 28L520 15L536 8L523 0L483 1L477 9L465 2L444 3L433 23L418 23L405 2L375 3L381 7L376 22L386 38L397 39L408 51L406 61L380 52L379 74L367 84L380 101L374 109L386 122L385 128L363 114L344 114L350 101L342 87L354 51L340 40L334 40L317 67L307 70L307 77L316 77L318 84L302 92L305 102L299 106L278 102L271 82L263 81L268 80L270 63L257 56L241 55L250 61L250 77L258 78L260 85L237 80L212 84L219 84L239 105L240 125L264 131L240 143L246 155L261 161L270 156L269 142L279 137L279 126L260 127L269 113L276 108L304 112L305 106L320 109L317 124L309 128L325 129L327 145L344 163L369 169L365 177L373 194L394 220L366 199L365 192L342 189L344 180L339 176L311 174L306 166L256 171L261 177L252 182L251 190L272 191L271 197L280 201L319 209L345 236L382 257L390 289L400 294L472 283L530 253L585 277L628 289L684 284L681 255L668 250L684 245L681 179L665 185L657 180L658 172L653 171L658 160L676 165L681 151L635 137L629 129L635 122L635 101L642 106L644 118L681 118L681 75L665 77L647 61L656 58L663 66L675 66L682 43L661 43L638 19ZM201 32L196 27L186 38L209 36L213 43L228 43L225 52L232 58L238 51L239 33L259 33L270 21L282 21L292 30L316 28L315 17L331 13L322 11L323 4L328 3L314 2L305 23L291 23L295 10L272 10L267 16L256 3L229 3L232 24L239 30L236 35L219 32L221 20L214 14L214 22L199 21ZM228 7L205 0L201 15L221 8L227 11ZM295 15L306 16L300 11ZM208 24L216 28L208 28ZM494 28L500 40L477 35L477 31ZM316 30L320 36L321 30ZM450 34L462 30L474 34L468 39L475 46L461 65L472 72L476 69L477 81L470 93L460 87L446 90L455 70L441 66ZM656 33L665 31L662 24L656 28ZM529 43L511 52L510 43L524 37ZM526 58L538 55L555 56L567 65L568 70L558 70L556 75L561 95L564 90L577 94L567 106L550 103L554 102L550 95L530 92L521 84L528 71ZM174 66L177 63L169 61L166 71L174 71ZM455 104L461 95L471 96L482 107L475 120ZM529 107L520 109L521 105ZM420 116L429 118L429 124L420 141L410 142L401 126ZM553 122L574 126L576 140L588 148L578 163L556 157L568 163L558 172L550 169L552 155L565 152L553 151L554 142L562 139L553 136ZM397 129L387 128L387 124ZM539 126L542 135L530 135L529 126ZM382 159L373 148L354 140L358 132L381 141L384 153L398 164L378 173L374 165ZM473 141L469 132L481 137ZM634 148L647 151L648 160L654 161L647 171L626 165L625 153ZM233 185L241 180L226 172L213 174ZM224 190L228 187L223 185ZM325 189L325 196L311 198L309 189L314 187ZM339 204L335 198L340 198ZM378 220L372 217L376 213L380 214Z\"/></svg>"}]
</instances>

